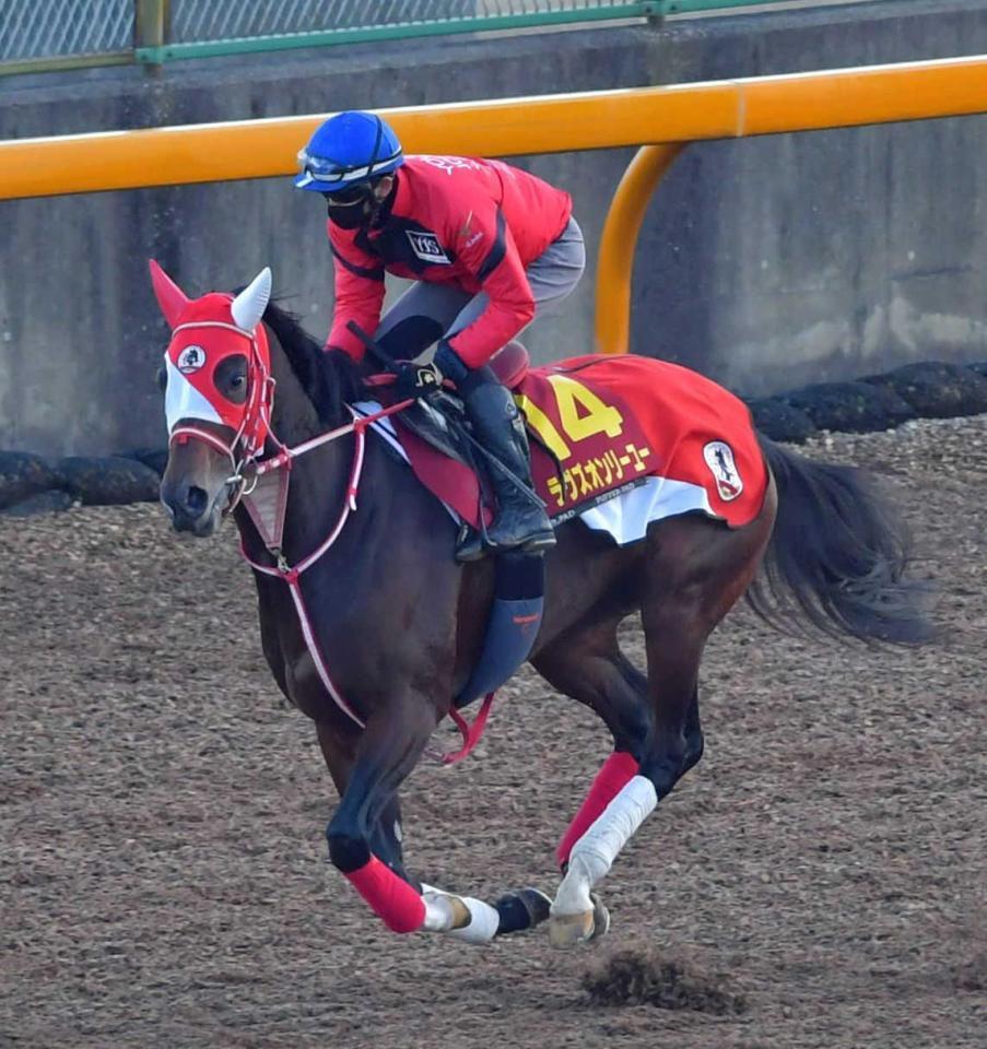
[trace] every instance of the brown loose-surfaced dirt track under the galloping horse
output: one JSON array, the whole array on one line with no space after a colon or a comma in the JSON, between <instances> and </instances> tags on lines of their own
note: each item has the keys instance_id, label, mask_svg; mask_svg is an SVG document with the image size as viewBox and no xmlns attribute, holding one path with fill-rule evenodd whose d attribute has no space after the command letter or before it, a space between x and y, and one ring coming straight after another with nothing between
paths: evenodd
<instances>
[{"instance_id":1,"label":"brown loose-surfaced dirt track under the galloping horse","mask_svg":"<svg viewBox=\"0 0 987 1049\"><path fill-rule=\"evenodd\" d=\"M0 519L0 1046L982 1049L987 416L811 453L882 475L948 633L873 653L731 614L706 757L603 883L611 935L563 954L543 929L396 936L328 865L332 787L232 533L179 541L154 506ZM412 777L412 868L553 892L607 751L525 672L475 756Z\"/></svg>"}]
</instances>

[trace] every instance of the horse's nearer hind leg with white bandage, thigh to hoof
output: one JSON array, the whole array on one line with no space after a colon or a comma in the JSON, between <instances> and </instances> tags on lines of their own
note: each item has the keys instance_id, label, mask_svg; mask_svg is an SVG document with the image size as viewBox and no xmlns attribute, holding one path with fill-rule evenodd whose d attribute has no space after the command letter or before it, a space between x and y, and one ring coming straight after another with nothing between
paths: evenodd
<instances>
[{"instance_id":1,"label":"horse's nearer hind leg with white bandage, thigh to hoof","mask_svg":"<svg viewBox=\"0 0 987 1049\"><path fill-rule=\"evenodd\" d=\"M552 904L556 946L592 935L594 885L658 801L700 759L696 695L703 648L753 578L772 520L773 506L767 506L752 524L736 531L688 517L653 528L642 599L651 723L636 775L572 848Z\"/></svg>"}]
</instances>

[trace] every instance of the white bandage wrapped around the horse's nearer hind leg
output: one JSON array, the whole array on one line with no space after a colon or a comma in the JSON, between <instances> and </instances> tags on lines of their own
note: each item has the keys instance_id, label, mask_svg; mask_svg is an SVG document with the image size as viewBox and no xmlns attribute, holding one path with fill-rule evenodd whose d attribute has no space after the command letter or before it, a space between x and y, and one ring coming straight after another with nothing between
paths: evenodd
<instances>
[{"instance_id":1,"label":"white bandage wrapped around the horse's nearer hind leg","mask_svg":"<svg viewBox=\"0 0 987 1049\"><path fill-rule=\"evenodd\" d=\"M646 776L635 776L573 846L568 870L555 900L553 915L581 915L592 910L589 892L607 875L621 849L648 817L658 794Z\"/></svg>"}]
</instances>

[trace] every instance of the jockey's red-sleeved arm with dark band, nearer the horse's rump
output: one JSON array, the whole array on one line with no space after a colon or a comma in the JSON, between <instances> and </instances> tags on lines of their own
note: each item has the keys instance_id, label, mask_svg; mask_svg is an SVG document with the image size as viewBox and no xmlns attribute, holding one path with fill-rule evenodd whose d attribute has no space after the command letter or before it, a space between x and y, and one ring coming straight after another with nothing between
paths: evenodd
<instances>
[{"instance_id":1,"label":"jockey's red-sleeved arm with dark band, nearer the horse's rump","mask_svg":"<svg viewBox=\"0 0 987 1049\"><path fill-rule=\"evenodd\" d=\"M480 282L490 302L483 313L448 340L468 368L479 368L534 317L534 296L504 215L471 214L457 231L459 261Z\"/></svg>"}]
</instances>

